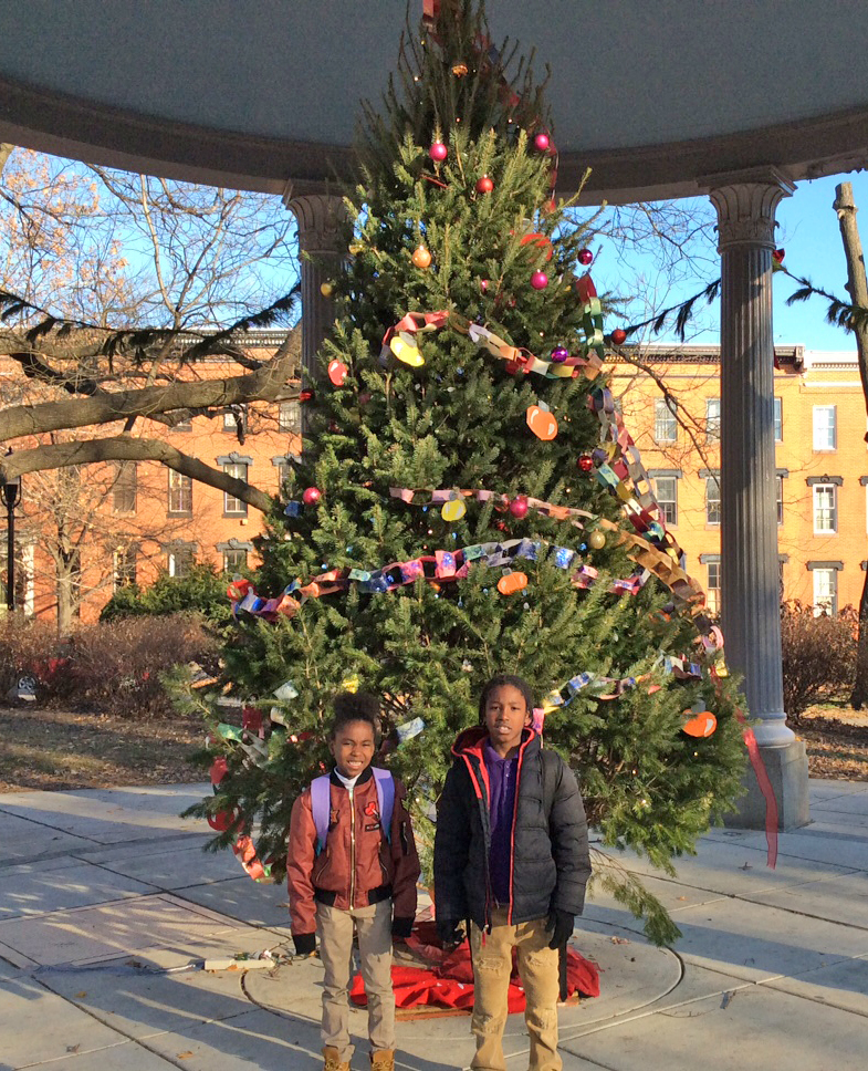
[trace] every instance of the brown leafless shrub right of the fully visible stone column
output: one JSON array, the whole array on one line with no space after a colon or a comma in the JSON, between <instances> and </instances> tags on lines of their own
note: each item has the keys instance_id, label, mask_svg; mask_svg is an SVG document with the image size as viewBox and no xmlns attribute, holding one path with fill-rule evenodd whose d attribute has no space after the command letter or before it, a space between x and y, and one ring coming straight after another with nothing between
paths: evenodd
<instances>
[{"instance_id":1,"label":"brown leafless shrub right of the fully visible stone column","mask_svg":"<svg viewBox=\"0 0 868 1071\"><path fill-rule=\"evenodd\" d=\"M815 616L813 606L797 601L782 604L784 710L793 725L814 704L848 693L856 670L856 627L850 607L829 617Z\"/></svg>"}]
</instances>

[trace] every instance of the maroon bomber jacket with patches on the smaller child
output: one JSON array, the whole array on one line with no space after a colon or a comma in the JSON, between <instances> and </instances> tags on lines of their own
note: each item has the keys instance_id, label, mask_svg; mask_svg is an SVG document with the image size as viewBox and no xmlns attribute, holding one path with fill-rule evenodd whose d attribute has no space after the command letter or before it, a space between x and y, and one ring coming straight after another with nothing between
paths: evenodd
<instances>
[{"instance_id":1,"label":"maroon bomber jacket with patches on the smaller child","mask_svg":"<svg viewBox=\"0 0 868 1071\"><path fill-rule=\"evenodd\" d=\"M341 911L394 901L395 918L416 914L416 853L407 792L395 779L395 805L390 840L383 835L377 787L370 767L359 774L353 790L333 772L330 784L328 835L322 854L316 854L316 826L311 809L311 789L296 799L290 819L286 885L293 937L316 932L316 902Z\"/></svg>"}]
</instances>

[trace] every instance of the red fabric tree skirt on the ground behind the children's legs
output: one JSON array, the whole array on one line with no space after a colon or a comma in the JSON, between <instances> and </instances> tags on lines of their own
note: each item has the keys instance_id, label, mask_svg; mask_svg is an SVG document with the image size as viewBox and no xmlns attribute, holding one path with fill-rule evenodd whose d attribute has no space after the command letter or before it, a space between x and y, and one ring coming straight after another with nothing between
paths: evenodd
<instances>
[{"instance_id":1,"label":"red fabric tree skirt on the ground behind the children's legs","mask_svg":"<svg viewBox=\"0 0 868 1071\"><path fill-rule=\"evenodd\" d=\"M473 1007L473 966L470 960L470 947L462 942L458 948L448 955L439 946L435 935L435 924L421 922L414 928L407 945L415 953L429 960L429 967L405 967L393 965L391 984L395 989L395 1004L398 1008L419 1008L436 1006L438 1008L467 1009ZM572 997L579 994L583 997L599 996L599 973L597 965L584 956L579 956L572 948L567 949L567 994ZM365 982L362 975L356 975L349 989L353 1004L364 1007L367 1005ZM506 994L506 1009L510 1015L524 1011L524 990L519 979L513 953L512 977Z\"/></svg>"}]
</instances>

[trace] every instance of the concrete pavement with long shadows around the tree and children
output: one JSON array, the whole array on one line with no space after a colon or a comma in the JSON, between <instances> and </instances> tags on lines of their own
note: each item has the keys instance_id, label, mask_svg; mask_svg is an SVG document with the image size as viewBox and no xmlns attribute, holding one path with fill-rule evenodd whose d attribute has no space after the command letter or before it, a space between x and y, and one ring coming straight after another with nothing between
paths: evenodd
<instances>
[{"instance_id":1,"label":"concrete pavement with long shadows around the tree and children","mask_svg":"<svg viewBox=\"0 0 868 1071\"><path fill-rule=\"evenodd\" d=\"M284 890L206 854L178 813L208 784L0 796L0 1071L316 1071L322 969L208 973L291 950ZM714 830L677 878L647 873L683 937L649 946L604 895L575 945L602 995L561 1009L565 1071L856 1071L868 1060L868 783L812 782L813 823ZM367 1067L365 1013L354 1068ZM466 1016L398 1026L398 1063L467 1067ZM510 1071L527 1063L523 1020Z\"/></svg>"}]
</instances>

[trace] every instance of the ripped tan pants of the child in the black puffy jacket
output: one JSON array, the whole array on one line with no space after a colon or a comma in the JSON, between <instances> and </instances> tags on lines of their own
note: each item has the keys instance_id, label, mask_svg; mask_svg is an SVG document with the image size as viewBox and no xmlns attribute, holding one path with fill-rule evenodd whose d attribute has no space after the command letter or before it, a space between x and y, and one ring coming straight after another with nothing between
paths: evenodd
<instances>
[{"instance_id":1,"label":"ripped tan pants of the child in the black puffy jacket","mask_svg":"<svg viewBox=\"0 0 868 1071\"><path fill-rule=\"evenodd\" d=\"M506 1025L506 990L512 973L512 949L517 948L519 977L524 987L524 1021L531 1039L531 1071L561 1071L557 1054L557 999L560 980L557 949L550 948L545 919L510 926L506 909L492 912L490 934L471 923L470 952L473 957L473 1018L477 1054L470 1062L475 1071L506 1071L503 1059L503 1028Z\"/></svg>"}]
</instances>

